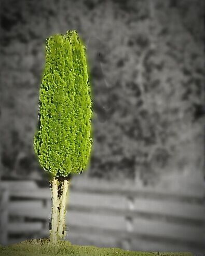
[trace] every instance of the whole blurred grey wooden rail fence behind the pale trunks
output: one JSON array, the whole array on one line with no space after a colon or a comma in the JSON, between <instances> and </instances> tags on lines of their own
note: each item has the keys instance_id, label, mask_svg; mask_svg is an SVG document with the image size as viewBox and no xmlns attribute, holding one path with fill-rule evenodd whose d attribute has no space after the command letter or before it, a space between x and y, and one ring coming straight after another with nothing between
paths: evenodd
<instances>
[{"instance_id":1,"label":"whole blurred grey wooden rail fence behind the pale trunks","mask_svg":"<svg viewBox=\"0 0 205 256\"><path fill-rule=\"evenodd\" d=\"M48 237L49 188L39 188L32 181L2 183L2 244ZM72 244L130 250L204 252L201 192L185 194L95 179L72 180L67 239Z\"/></svg>"}]
</instances>

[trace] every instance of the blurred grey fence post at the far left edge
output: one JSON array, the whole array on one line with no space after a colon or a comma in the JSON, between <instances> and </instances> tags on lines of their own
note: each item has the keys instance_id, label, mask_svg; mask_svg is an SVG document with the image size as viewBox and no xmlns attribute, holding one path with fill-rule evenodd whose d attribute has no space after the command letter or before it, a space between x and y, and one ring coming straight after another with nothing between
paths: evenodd
<instances>
[{"instance_id":1,"label":"blurred grey fence post at the far left edge","mask_svg":"<svg viewBox=\"0 0 205 256\"><path fill-rule=\"evenodd\" d=\"M9 191L8 187L1 186L1 201L0 201L0 242L6 246L8 244L8 206L9 206Z\"/></svg>"}]
</instances>

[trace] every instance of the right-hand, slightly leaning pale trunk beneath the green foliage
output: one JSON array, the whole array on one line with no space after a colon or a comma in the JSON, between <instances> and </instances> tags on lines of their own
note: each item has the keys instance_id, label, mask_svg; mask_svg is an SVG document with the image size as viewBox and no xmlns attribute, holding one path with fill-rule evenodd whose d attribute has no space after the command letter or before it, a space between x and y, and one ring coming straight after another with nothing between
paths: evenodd
<instances>
[{"instance_id":1,"label":"right-hand, slightly leaning pale trunk beneath the green foliage","mask_svg":"<svg viewBox=\"0 0 205 256\"><path fill-rule=\"evenodd\" d=\"M60 199L60 213L59 213L59 225L58 225L58 236L60 239L63 239L65 237L66 203L67 203L68 191L69 191L69 181L64 180L62 185L62 195Z\"/></svg>"}]
</instances>

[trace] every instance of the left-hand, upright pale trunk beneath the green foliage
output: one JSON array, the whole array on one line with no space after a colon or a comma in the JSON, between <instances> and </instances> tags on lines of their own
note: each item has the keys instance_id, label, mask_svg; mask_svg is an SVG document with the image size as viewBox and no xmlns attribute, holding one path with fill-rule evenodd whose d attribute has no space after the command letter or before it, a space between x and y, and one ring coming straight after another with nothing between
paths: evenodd
<instances>
[{"instance_id":1,"label":"left-hand, upright pale trunk beneath the green foliage","mask_svg":"<svg viewBox=\"0 0 205 256\"><path fill-rule=\"evenodd\" d=\"M59 223L59 198L58 198L58 185L57 179L52 181L52 216L51 216L51 231L50 241L53 244L57 243L58 240L58 223Z\"/></svg>"}]
</instances>

